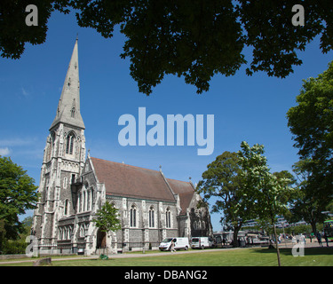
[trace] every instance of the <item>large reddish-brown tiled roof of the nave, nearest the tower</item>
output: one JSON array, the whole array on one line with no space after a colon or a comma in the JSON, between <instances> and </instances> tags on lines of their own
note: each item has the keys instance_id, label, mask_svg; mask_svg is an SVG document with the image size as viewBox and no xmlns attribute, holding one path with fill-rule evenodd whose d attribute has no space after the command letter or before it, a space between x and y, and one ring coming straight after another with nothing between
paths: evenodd
<instances>
[{"instance_id":1,"label":"large reddish-brown tiled roof of the nave, nearest the tower","mask_svg":"<svg viewBox=\"0 0 333 284\"><path fill-rule=\"evenodd\" d=\"M91 157L99 183L104 183L107 194L158 201L175 201L162 174L119 162Z\"/></svg>"}]
</instances>

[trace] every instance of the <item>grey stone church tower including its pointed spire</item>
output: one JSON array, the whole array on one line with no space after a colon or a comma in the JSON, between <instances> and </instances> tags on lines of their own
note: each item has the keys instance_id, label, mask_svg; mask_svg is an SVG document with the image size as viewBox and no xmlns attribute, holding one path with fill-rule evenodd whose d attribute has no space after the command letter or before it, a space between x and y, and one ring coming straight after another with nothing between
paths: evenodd
<instances>
[{"instance_id":1,"label":"grey stone church tower including its pointed spire","mask_svg":"<svg viewBox=\"0 0 333 284\"><path fill-rule=\"evenodd\" d=\"M77 38L55 118L46 139L34 214L33 233L40 248L56 248L59 219L75 214L75 184L85 162L84 123L80 113Z\"/></svg>"}]
</instances>

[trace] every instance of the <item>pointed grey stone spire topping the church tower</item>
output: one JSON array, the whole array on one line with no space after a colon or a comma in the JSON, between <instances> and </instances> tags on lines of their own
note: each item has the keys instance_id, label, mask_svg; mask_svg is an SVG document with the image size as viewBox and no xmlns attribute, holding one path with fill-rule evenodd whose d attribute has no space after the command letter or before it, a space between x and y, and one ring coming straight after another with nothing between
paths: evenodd
<instances>
[{"instance_id":1,"label":"pointed grey stone spire topping the church tower","mask_svg":"<svg viewBox=\"0 0 333 284\"><path fill-rule=\"evenodd\" d=\"M59 99L57 114L52 122L50 130L60 122L79 127L83 130L85 129L80 113L80 81L77 42L78 39L76 36L74 50Z\"/></svg>"}]
</instances>

